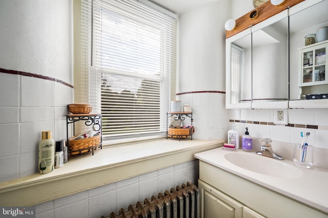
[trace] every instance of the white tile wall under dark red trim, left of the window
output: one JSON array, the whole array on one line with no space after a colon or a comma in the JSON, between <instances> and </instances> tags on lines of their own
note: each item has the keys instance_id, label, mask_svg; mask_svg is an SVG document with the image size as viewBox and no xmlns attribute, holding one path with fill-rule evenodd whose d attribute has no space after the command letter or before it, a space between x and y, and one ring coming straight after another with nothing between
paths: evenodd
<instances>
[{"instance_id":1,"label":"white tile wall under dark red trim, left of the window","mask_svg":"<svg viewBox=\"0 0 328 218\"><path fill-rule=\"evenodd\" d=\"M0 99L0 182L4 182L37 173L42 131L53 131L55 140L66 138L67 105L73 102L73 88L0 73ZM8 165L11 167L5 167Z\"/></svg>"}]
</instances>

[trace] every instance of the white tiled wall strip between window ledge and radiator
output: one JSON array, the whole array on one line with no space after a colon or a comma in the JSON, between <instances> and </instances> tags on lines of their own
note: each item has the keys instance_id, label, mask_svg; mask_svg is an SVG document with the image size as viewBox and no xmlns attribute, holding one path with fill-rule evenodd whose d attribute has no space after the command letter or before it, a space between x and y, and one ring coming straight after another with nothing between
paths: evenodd
<instances>
[{"instance_id":1,"label":"white tiled wall strip between window ledge and radiator","mask_svg":"<svg viewBox=\"0 0 328 218\"><path fill-rule=\"evenodd\" d=\"M143 202L187 181L197 184L199 161L191 160L36 205L37 218L101 217Z\"/></svg>"}]
</instances>

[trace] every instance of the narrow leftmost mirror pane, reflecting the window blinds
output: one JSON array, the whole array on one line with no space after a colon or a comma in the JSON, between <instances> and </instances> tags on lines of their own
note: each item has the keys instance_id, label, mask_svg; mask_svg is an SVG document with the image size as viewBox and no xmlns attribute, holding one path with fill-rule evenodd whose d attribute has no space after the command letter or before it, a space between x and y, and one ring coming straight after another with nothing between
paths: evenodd
<instances>
[{"instance_id":1,"label":"narrow leftmost mirror pane, reflecting the window blinds","mask_svg":"<svg viewBox=\"0 0 328 218\"><path fill-rule=\"evenodd\" d=\"M252 47L251 34L231 42L230 98L231 104L251 103Z\"/></svg>"}]
</instances>

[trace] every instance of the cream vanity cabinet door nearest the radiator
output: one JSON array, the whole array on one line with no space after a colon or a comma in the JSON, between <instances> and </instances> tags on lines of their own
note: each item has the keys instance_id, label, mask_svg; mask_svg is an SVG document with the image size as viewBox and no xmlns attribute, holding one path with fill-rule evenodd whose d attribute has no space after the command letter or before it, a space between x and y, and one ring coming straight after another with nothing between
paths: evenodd
<instances>
[{"instance_id":1,"label":"cream vanity cabinet door nearest the radiator","mask_svg":"<svg viewBox=\"0 0 328 218\"><path fill-rule=\"evenodd\" d=\"M198 180L198 188L200 190L202 218L242 217L243 205L239 202L201 180Z\"/></svg>"}]
</instances>

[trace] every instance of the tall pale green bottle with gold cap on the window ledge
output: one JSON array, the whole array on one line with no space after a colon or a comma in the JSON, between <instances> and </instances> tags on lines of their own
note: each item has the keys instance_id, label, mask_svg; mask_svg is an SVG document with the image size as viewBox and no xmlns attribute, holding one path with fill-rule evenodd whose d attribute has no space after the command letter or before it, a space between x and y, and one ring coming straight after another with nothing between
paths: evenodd
<instances>
[{"instance_id":1,"label":"tall pale green bottle with gold cap on the window ledge","mask_svg":"<svg viewBox=\"0 0 328 218\"><path fill-rule=\"evenodd\" d=\"M47 174L53 171L55 164L55 141L51 131L42 131L42 139L39 141L39 174Z\"/></svg>"}]
</instances>

